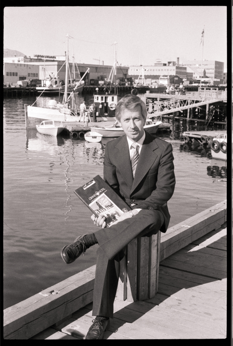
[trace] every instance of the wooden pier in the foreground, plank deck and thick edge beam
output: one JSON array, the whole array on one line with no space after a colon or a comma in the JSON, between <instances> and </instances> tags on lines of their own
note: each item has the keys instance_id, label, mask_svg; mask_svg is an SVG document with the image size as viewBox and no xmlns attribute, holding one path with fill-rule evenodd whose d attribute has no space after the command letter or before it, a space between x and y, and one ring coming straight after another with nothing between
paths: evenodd
<instances>
[{"instance_id":1,"label":"wooden pier in the foreground, plank deck and thick edge beam","mask_svg":"<svg viewBox=\"0 0 233 346\"><path fill-rule=\"evenodd\" d=\"M104 339L226 338L226 200L161 235L158 292L114 303ZM5 339L84 339L95 265L4 310Z\"/></svg>"}]
</instances>

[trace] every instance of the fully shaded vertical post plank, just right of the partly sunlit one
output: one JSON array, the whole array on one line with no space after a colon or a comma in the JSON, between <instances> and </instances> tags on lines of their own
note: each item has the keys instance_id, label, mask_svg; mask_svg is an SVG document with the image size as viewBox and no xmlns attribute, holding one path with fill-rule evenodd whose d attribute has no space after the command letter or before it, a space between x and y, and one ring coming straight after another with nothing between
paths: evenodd
<instances>
[{"instance_id":1,"label":"fully shaded vertical post plank, just right of the partly sunlit one","mask_svg":"<svg viewBox=\"0 0 233 346\"><path fill-rule=\"evenodd\" d=\"M149 238L138 238L137 299L148 298Z\"/></svg>"}]
</instances>

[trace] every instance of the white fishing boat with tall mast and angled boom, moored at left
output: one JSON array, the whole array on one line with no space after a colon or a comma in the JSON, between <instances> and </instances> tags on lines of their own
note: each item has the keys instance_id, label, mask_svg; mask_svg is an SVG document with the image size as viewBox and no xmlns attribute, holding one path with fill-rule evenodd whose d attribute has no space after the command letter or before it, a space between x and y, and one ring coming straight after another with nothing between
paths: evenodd
<instances>
[{"instance_id":1,"label":"white fishing boat with tall mast and angled boom, moored at left","mask_svg":"<svg viewBox=\"0 0 233 346\"><path fill-rule=\"evenodd\" d=\"M86 74L90 71L90 68L87 69L83 77L74 87L72 93L68 96L68 64L69 64L68 34L67 34L67 54L66 54L65 64L66 64L66 75L65 75L65 91L64 91L63 102L60 103L60 102L57 102L56 100L49 100L47 107L34 106L36 101L32 104L32 106L25 104L26 127L29 126L30 123L33 123L35 125L40 124L40 122L43 120L54 120L54 121L63 121L63 122L74 122L79 120L79 118L77 117L77 114L75 114L73 110L69 109L68 101L69 99L71 99L71 97L74 100L74 92L78 88L78 86L81 85L81 82L85 78Z\"/></svg>"}]
</instances>

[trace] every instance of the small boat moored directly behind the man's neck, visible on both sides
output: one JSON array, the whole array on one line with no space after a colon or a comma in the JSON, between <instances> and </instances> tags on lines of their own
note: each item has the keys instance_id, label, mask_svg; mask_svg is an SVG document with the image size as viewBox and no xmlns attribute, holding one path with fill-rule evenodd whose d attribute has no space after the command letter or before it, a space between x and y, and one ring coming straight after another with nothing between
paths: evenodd
<instances>
[{"instance_id":1,"label":"small boat moored directly behind the man's neck, visible on both sides","mask_svg":"<svg viewBox=\"0 0 233 346\"><path fill-rule=\"evenodd\" d=\"M161 121L157 121L156 123L153 123L152 120L147 119L144 129L147 130L151 134L155 134L161 123L162 123ZM100 134L102 134L103 137L120 137L124 135L124 131L122 127L120 127L117 124L104 126L104 127L103 126L91 127L91 131L98 131Z\"/></svg>"}]
</instances>

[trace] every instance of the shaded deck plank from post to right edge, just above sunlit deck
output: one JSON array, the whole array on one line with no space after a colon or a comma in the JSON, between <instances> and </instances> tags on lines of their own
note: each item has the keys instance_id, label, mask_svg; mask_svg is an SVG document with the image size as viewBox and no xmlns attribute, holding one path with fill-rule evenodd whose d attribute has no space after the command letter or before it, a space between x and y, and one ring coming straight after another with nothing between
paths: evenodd
<instances>
[{"instance_id":1,"label":"shaded deck plank from post to right edge, just above sunlit deck","mask_svg":"<svg viewBox=\"0 0 233 346\"><path fill-rule=\"evenodd\" d=\"M170 260L169 258L166 258L166 261L166 267L176 268L194 274L212 277L213 279L224 279L226 277L226 272L216 270L213 268L204 268L203 266L198 266L191 263L183 263L176 260Z\"/></svg>"}]
</instances>

